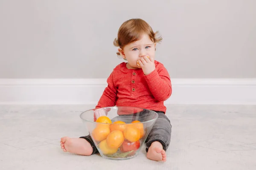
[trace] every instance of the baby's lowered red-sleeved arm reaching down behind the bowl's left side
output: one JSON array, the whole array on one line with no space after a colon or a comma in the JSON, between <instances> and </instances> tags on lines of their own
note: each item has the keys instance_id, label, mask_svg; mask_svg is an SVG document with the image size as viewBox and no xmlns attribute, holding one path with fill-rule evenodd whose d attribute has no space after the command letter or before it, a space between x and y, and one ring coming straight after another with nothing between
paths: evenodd
<instances>
[{"instance_id":1,"label":"baby's lowered red-sleeved arm reaching down behind the bowl's left side","mask_svg":"<svg viewBox=\"0 0 256 170\"><path fill-rule=\"evenodd\" d=\"M116 105L117 88L113 83L113 72L107 79L108 86L105 88L96 108L111 107Z\"/></svg>"}]
</instances>

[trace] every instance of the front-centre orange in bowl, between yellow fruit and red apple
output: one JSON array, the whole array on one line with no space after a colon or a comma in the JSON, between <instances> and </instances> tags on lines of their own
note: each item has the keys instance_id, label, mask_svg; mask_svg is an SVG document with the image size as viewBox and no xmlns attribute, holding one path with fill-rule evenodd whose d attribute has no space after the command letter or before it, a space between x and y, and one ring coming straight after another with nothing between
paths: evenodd
<instances>
[{"instance_id":1,"label":"front-centre orange in bowl, between yellow fruit and red apple","mask_svg":"<svg viewBox=\"0 0 256 170\"><path fill-rule=\"evenodd\" d=\"M122 131L114 130L111 133L109 133L106 140L108 147L117 149L121 146L122 142L124 142L125 138Z\"/></svg>"}]
</instances>

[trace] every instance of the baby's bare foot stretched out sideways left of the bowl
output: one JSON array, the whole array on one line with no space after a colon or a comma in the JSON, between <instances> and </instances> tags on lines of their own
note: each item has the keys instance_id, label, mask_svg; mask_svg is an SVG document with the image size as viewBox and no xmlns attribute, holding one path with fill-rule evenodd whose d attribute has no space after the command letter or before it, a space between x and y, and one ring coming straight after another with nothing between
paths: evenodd
<instances>
[{"instance_id":1,"label":"baby's bare foot stretched out sideways left of the bowl","mask_svg":"<svg viewBox=\"0 0 256 170\"><path fill-rule=\"evenodd\" d=\"M93 148L90 143L82 138L61 138L61 149L64 152L76 153L78 155L91 155L93 153Z\"/></svg>"}]
</instances>

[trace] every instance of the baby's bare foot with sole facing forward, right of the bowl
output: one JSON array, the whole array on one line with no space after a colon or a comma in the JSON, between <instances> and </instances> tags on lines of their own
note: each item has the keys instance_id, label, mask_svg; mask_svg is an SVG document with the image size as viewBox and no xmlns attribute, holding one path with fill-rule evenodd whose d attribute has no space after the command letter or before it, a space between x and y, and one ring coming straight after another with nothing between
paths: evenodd
<instances>
[{"instance_id":1,"label":"baby's bare foot with sole facing forward, right of the bowl","mask_svg":"<svg viewBox=\"0 0 256 170\"><path fill-rule=\"evenodd\" d=\"M148 148L147 158L154 161L166 161L166 153L160 142L155 141Z\"/></svg>"}]
</instances>

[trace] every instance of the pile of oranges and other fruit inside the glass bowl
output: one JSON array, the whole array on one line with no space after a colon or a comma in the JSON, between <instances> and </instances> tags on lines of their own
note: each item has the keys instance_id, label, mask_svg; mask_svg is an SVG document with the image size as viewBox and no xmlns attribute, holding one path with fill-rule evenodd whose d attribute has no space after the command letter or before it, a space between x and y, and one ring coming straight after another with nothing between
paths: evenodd
<instances>
[{"instance_id":1,"label":"pile of oranges and other fruit inside the glass bowl","mask_svg":"<svg viewBox=\"0 0 256 170\"><path fill-rule=\"evenodd\" d=\"M144 135L143 123L133 121L126 124L122 121L113 122L107 116L100 116L96 122L99 124L93 129L91 136L99 142L99 149L105 155L118 151L135 151L140 147L140 139Z\"/></svg>"}]
</instances>

